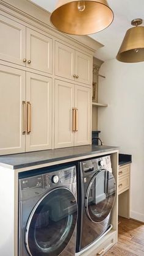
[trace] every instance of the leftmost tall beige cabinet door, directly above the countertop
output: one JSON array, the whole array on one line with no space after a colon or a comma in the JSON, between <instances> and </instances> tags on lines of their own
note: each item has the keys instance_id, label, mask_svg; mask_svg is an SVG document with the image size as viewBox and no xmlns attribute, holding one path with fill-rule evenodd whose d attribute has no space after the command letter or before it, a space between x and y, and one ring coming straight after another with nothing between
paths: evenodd
<instances>
[{"instance_id":1,"label":"leftmost tall beige cabinet door, directly above the countertop","mask_svg":"<svg viewBox=\"0 0 144 256\"><path fill-rule=\"evenodd\" d=\"M0 155L24 152L25 71L0 65L0 81Z\"/></svg>"}]
</instances>

